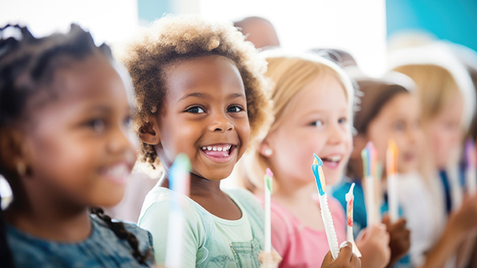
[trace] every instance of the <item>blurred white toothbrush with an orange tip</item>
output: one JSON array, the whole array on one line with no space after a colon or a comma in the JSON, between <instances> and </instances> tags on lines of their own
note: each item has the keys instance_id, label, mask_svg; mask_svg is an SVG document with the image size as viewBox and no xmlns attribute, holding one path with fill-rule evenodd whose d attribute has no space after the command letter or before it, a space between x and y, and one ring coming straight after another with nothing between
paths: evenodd
<instances>
[{"instance_id":1,"label":"blurred white toothbrush with an orange tip","mask_svg":"<svg viewBox=\"0 0 477 268\"><path fill-rule=\"evenodd\" d=\"M391 223L398 221L398 146L393 139L388 142L386 151L386 179L388 180L388 203Z\"/></svg>"}]
</instances>

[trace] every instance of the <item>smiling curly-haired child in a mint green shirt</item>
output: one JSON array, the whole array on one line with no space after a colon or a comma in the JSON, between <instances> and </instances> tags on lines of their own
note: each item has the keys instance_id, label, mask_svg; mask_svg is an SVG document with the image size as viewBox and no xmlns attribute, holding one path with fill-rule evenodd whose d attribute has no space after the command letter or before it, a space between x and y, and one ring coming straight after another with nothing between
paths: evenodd
<instances>
[{"instance_id":1,"label":"smiling curly-haired child in a mint green shirt","mask_svg":"<svg viewBox=\"0 0 477 268\"><path fill-rule=\"evenodd\" d=\"M171 200L168 170L177 154L185 153L191 188L190 198L183 197L186 224L178 266L260 267L260 204L248 191L220 189L269 114L265 60L243 38L231 24L167 16L125 49L139 108L134 125L141 158L164 167L139 217L139 226L153 234L160 263ZM341 252L350 256L349 250Z\"/></svg>"}]
</instances>

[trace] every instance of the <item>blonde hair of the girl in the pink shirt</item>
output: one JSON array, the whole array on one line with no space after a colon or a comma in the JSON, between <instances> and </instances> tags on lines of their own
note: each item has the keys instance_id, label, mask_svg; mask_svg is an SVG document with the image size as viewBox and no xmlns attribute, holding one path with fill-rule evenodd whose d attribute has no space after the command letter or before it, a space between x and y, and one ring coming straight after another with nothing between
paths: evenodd
<instances>
[{"instance_id":1,"label":"blonde hair of the girl in the pink shirt","mask_svg":"<svg viewBox=\"0 0 477 268\"><path fill-rule=\"evenodd\" d=\"M332 75L341 82L345 89L346 98L350 104L350 125L352 125L352 105L354 93L350 79L336 64L324 58L305 56L276 56L267 58L268 70L265 74L272 79L272 103L274 121L269 125L269 132L274 132L281 125L284 115L297 105L295 96L314 79ZM267 168L266 159L260 154L259 148L250 150L239 163L239 176L250 191L263 187L262 177Z\"/></svg>"}]
</instances>

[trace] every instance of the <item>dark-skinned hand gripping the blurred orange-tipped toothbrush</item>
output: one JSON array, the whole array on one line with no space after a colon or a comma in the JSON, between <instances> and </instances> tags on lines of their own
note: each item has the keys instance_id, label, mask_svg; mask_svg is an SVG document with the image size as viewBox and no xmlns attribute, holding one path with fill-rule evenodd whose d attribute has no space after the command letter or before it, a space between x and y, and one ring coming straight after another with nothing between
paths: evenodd
<instances>
[{"instance_id":1,"label":"dark-skinned hand gripping the blurred orange-tipped toothbrush","mask_svg":"<svg viewBox=\"0 0 477 268\"><path fill-rule=\"evenodd\" d=\"M406 220L399 219L398 222L391 224L389 215L383 218L383 224L386 224L386 230L389 233L389 247L391 257L388 267L392 267L395 262L402 258L409 248L411 248L411 232L406 229Z\"/></svg>"}]
</instances>

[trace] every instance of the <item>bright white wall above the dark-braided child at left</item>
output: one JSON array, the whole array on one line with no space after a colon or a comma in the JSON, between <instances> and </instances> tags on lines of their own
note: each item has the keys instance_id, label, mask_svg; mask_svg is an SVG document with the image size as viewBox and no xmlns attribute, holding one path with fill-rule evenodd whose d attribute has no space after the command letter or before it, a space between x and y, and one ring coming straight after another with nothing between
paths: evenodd
<instances>
[{"instance_id":1,"label":"bright white wall above the dark-braided child at left","mask_svg":"<svg viewBox=\"0 0 477 268\"><path fill-rule=\"evenodd\" d=\"M78 23L96 44L112 44L124 42L139 19L137 0L1 0L0 27L7 23L27 25L37 37Z\"/></svg>"}]
</instances>

